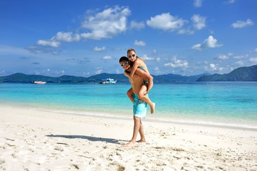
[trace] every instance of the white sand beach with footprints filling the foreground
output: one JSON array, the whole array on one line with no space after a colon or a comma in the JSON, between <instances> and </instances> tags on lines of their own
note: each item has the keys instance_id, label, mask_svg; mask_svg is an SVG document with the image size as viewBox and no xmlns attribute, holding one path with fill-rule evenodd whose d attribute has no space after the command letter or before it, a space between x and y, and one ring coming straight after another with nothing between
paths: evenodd
<instances>
[{"instance_id":1,"label":"white sand beach with footprints filling the foreground","mask_svg":"<svg viewBox=\"0 0 257 171\"><path fill-rule=\"evenodd\" d=\"M0 107L2 171L257 171L257 130ZM139 136L139 135L138 135ZM138 137L139 139L139 137Z\"/></svg>"}]
</instances>

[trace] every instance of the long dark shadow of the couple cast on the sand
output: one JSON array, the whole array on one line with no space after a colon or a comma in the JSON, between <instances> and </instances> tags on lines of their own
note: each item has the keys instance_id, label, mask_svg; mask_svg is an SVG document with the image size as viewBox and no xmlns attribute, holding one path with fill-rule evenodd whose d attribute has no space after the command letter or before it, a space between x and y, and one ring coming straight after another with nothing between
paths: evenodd
<instances>
[{"instance_id":1,"label":"long dark shadow of the couple cast on the sand","mask_svg":"<svg viewBox=\"0 0 257 171\"><path fill-rule=\"evenodd\" d=\"M113 143L113 144L123 144L120 143L120 141L126 141L126 140L117 140L113 138L101 138L101 137L93 137L93 136L86 136L86 135L45 135L47 137L62 137L62 138L80 138L80 139L87 139L88 141L102 141L102 142L107 142L107 143ZM128 141L126 141L128 142Z\"/></svg>"}]
</instances>

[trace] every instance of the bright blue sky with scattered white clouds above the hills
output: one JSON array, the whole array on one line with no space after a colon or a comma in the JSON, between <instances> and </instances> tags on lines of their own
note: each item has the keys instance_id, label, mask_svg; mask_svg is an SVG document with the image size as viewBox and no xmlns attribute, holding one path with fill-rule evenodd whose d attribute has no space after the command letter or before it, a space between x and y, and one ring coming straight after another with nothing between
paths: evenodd
<instances>
[{"instance_id":1,"label":"bright blue sky with scattered white clouds above the hills","mask_svg":"<svg viewBox=\"0 0 257 171\"><path fill-rule=\"evenodd\" d=\"M123 73L136 50L151 75L257 64L257 0L2 0L0 76Z\"/></svg>"}]
</instances>

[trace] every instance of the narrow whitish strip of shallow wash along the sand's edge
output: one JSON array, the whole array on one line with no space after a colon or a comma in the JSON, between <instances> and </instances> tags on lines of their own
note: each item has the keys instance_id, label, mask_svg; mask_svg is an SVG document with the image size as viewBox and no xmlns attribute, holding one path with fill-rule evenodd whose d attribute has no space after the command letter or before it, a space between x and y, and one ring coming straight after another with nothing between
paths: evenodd
<instances>
[{"instance_id":1,"label":"narrow whitish strip of shallow wash along the sand's edge","mask_svg":"<svg viewBox=\"0 0 257 171\"><path fill-rule=\"evenodd\" d=\"M46 111L46 112L53 112L53 113L61 113L61 114L70 114L70 115L80 115L80 116L91 116L91 117L101 117L101 118L110 118L110 119L125 119L130 120L132 115L118 115L118 114L110 114L106 112L87 112L81 110L65 110L65 109L54 109L54 108L47 108L47 107L20 107L10 104L0 105L0 107L9 107L9 108L17 108L17 109L25 109L25 110L33 110L33 111ZM235 128L235 129L248 129L248 130L257 130L257 123L256 125L239 125L238 123L220 123L220 122L210 122L206 120L188 120L184 118L172 118L171 116L164 117L155 114L147 113L148 122L157 122L157 123L171 123L177 125L189 125L189 126L205 126L205 127L215 127L215 128Z\"/></svg>"}]
</instances>

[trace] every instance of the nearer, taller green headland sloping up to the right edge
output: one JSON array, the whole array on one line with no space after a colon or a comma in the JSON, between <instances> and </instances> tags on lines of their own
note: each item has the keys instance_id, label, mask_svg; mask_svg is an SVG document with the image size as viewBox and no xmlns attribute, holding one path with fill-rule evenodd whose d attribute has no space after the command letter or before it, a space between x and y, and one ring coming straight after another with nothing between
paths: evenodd
<instances>
[{"instance_id":1,"label":"nearer, taller green headland sloping up to the right edge","mask_svg":"<svg viewBox=\"0 0 257 171\"><path fill-rule=\"evenodd\" d=\"M196 81L257 81L257 65L239 67L228 74L203 75Z\"/></svg>"}]
</instances>

